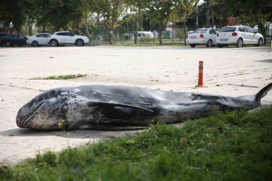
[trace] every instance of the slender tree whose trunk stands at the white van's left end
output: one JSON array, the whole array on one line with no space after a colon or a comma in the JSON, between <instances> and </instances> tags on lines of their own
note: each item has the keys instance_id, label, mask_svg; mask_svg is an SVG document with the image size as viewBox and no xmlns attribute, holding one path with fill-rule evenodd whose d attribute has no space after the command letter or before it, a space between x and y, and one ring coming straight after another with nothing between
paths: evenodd
<instances>
[{"instance_id":1,"label":"slender tree whose trunk stands at the white van's left end","mask_svg":"<svg viewBox=\"0 0 272 181\"><path fill-rule=\"evenodd\" d=\"M127 0L128 8L130 9L130 14L125 18L125 21L128 21L132 26L134 43L137 43L138 38L138 29L139 29L139 15L142 13L144 8L144 0Z\"/></svg>"}]
</instances>

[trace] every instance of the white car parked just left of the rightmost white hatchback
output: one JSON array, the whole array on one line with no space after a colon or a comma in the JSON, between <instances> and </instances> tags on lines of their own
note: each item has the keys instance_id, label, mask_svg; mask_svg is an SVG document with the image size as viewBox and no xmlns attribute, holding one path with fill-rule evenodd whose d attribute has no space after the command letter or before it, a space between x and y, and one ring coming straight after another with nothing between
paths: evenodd
<instances>
[{"instance_id":1,"label":"white car parked just left of the rightmost white hatchback","mask_svg":"<svg viewBox=\"0 0 272 181\"><path fill-rule=\"evenodd\" d=\"M193 48L196 47L196 45L212 47L216 45L217 32L219 32L219 29L215 28L197 29L193 33L187 34L186 42Z\"/></svg>"}]
</instances>

